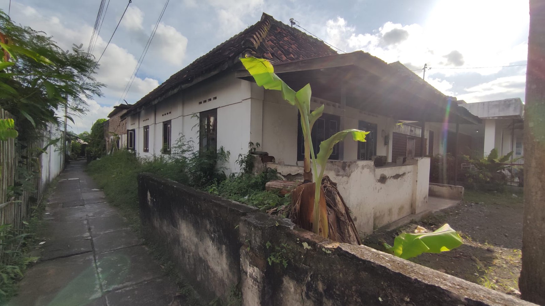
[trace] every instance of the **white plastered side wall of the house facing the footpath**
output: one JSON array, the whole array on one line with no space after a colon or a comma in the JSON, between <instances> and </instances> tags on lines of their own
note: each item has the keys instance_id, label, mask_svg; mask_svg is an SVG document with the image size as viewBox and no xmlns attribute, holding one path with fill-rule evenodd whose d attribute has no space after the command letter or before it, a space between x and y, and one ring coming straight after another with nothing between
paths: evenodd
<instances>
[{"instance_id":1,"label":"white plastered side wall of the house facing the footpath","mask_svg":"<svg viewBox=\"0 0 545 306\"><path fill-rule=\"evenodd\" d=\"M192 86L139 114L127 118L128 129L136 129L136 152L142 157L161 154L163 123L171 120L171 146L181 136L198 150L198 116L217 109L217 148L223 146L231 158L227 174L239 171L235 161L248 151L248 143L262 143L263 89L228 72ZM143 127L149 126L149 152L143 152Z\"/></svg>"}]
</instances>

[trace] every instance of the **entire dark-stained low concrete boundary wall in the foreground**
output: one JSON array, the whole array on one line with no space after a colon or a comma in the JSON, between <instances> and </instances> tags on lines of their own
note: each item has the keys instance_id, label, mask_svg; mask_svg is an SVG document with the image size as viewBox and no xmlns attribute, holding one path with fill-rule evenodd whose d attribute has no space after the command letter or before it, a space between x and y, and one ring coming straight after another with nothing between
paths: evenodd
<instances>
[{"instance_id":1,"label":"entire dark-stained low concrete boundary wall in the foreground","mask_svg":"<svg viewBox=\"0 0 545 306\"><path fill-rule=\"evenodd\" d=\"M203 302L240 288L243 305L534 305L152 174L138 177L148 239Z\"/></svg>"}]
</instances>

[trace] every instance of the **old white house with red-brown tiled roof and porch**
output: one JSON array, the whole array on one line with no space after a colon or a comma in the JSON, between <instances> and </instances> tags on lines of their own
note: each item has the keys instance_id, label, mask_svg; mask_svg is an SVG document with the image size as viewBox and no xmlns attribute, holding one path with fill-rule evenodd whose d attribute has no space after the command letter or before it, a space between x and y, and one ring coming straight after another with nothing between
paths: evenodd
<instances>
[{"instance_id":1,"label":"old white house with red-brown tiled roof and porch","mask_svg":"<svg viewBox=\"0 0 545 306\"><path fill-rule=\"evenodd\" d=\"M193 141L195 150L225 148L231 153L227 171L239 172L233 157L245 154L249 142L259 143L261 151L274 157L268 167L297 177L303 159L298 110L284 102L280 92L253 82L239 60L246 56L268 59L294 90L310 83L311 108L325 105L312 130L315 152L320 141L339 130L371 132L367 142L338 143L330 157L331 171L326 171L340 183L356 214L356 226L364 233L420 213L428 203L429 159L407 159L408 154L396 151L392 139L398 120L425 127L426 122L443 122L447 108L447 120L479 120L450 105L448 97L414 73L405 73L402 64L389 65L361 51L337 54L323 41L263 14L256 24L174 73L127 109L122 118L128 148L143 157L168 154L183 136ZM427 155L426 135L417 135L422 149L412 156ZM373 191L350 192L364 185Z\"/></svg>"}]
</instances>

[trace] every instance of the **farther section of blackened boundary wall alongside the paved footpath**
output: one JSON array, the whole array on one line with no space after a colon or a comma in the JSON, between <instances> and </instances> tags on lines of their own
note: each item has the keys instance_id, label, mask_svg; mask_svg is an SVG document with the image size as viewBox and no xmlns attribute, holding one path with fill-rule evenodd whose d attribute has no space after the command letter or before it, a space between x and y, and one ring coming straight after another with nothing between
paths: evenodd
<instances>
[{"instance_id":1,"label":"farther section of blackened boundary wall alongside the paved footpath","mask_svg":"<svg viewBox=\"0 0 545 306\"><path fill-rule=\"evenodd\" d=\"M240 218L247 205L153 176L138 176L147 238L164 245L204 301L227 297L240 281Z\"/></svg>"}]
</instances>

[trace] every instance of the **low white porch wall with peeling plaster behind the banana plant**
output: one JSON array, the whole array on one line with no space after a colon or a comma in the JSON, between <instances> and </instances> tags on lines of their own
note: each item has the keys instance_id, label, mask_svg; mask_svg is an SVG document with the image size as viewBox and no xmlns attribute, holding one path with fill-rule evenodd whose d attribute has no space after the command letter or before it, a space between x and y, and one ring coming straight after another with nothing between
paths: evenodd
<instances>
[{"instance_id":1,"label":"low white porch wall with peeling plaster behind the banana plant","mask_svg":"<svg viewBox=\"0 0 545 306\"><path fill-rule=\"evenodd\" d=\"M286 178L302 176L301 166L267 164ZM371 160L336 161L325 172L341 192L362 234L422 211L428 201L429 158L415 158L403 166L378 167Z\"/></svg>"}]
</instances>

